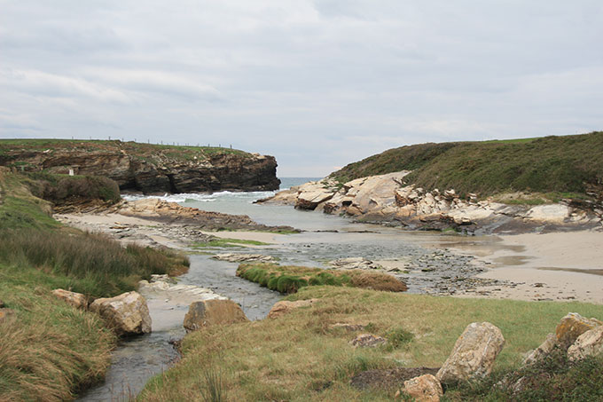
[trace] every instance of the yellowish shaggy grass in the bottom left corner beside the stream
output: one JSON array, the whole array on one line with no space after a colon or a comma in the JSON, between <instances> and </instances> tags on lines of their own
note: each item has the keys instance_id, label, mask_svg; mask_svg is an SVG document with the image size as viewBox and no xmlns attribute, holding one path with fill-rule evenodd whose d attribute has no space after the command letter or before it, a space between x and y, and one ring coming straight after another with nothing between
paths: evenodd
<instances>
[{"instance_id":1,"label":"yellowish shaggy grass in the bottom left corner beside the stream","mask_svg":"<svg viewBox=\"0 0 603 402\"><path fill-rule=\"evenodd\" d=\"M109 365L114 335L97 315L54 296L35 280L0 264L0 295L13 311L0 324L0 399L61 401L97 382Z\"/></svg>"}]
</instances>

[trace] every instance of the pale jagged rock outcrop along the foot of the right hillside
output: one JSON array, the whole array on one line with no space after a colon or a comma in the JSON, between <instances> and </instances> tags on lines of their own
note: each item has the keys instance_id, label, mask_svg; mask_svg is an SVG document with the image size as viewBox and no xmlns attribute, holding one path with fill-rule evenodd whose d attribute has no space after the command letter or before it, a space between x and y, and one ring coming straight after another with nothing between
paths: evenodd
<instances>
[{"instance_id":1,"label":"pale jagged rock outcrop along the foot of the right hillside","mask_svg":"<svg viewBox=\"0 0 603 402\"><path fill-rule=\"evenodd\" d=\"M429 191L407 185L404 177L409 173L405 170L362 177L343 185L325 178L258 202L294 205L296 209L322 210L363 222L424 230L454 228L468 233L513 233L601 227L603 206L589 204L586 208L569 200L536 206L492 199L479 201L472 193L461 197L454 189Z\"/></svg>"}]
</instances>

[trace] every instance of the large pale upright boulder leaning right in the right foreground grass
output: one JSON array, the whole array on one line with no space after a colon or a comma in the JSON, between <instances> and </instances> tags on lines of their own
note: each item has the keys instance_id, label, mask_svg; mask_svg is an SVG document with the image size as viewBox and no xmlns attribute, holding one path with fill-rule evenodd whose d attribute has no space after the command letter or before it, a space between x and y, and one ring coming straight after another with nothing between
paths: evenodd
<instances>
[{"instance_id":1,"label":"large pale upright boulder leaning right in the right foreground grass","mask_svg":"<svg viewBox=\"0 0 603 402\"><path fill-rule=\"evenodd\" d=\"M469 324L458 337L437 378L443 383L454 383L484 377L492 371L504 345L500 329L489 322Z\"/></svg>"}]
</instances>

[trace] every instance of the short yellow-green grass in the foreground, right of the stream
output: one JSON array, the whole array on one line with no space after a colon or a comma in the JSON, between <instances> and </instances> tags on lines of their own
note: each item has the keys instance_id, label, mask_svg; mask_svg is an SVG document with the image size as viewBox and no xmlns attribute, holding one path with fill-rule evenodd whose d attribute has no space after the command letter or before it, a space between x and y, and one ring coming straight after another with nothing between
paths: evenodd
<instances>
[{"instance_id":1,"label":"short yellow-green grass in the foreground, right of the stream","mask_svg":"<svg viewBox=\"0 0 603 402\"><path fill-rule=\"evenodd\" d=\"M458 335L475 321L489 321L505 335L494 373L502 375L519 366L522 354L542 343L568 311L603 318L603 306L587 303L462 299L326 286L301 288L288 296L308 298L320 300L278 319L187 335L183 359L148 382L138 400L199 399L195 390L205 382L202 369L208 362L227 374L223 398L229 401L391 400L395 390L357 390L349 385L350 377L373 368L439 367ZM403 347L393 350L354 349L348 342L357 333L330 329L341 322L370 322L372 334L386 338L403 334L401 328L413 336L408 341L401 336Z\"/></svg>"}]
</instances>

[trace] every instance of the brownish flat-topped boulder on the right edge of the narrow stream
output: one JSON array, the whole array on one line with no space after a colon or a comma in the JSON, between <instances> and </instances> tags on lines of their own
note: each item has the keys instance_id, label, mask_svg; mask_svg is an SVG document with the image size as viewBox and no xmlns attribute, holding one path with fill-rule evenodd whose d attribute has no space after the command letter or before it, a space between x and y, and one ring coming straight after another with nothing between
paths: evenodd
<instances>
[{"instance_id":1,"label":"brownish flat-topped boulder on the right edge of the narrow stream","mask_svg":"<svg viewBox=\"0 0 603 402\"><path fill-rule=\"evenodd\" d=\"M203 300L191 303L189 311L184 316L184 328L187 331L196 331L202 327L248 320L239 304L230 299Z\"/></svg>"}]
</instances>

